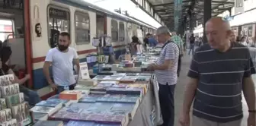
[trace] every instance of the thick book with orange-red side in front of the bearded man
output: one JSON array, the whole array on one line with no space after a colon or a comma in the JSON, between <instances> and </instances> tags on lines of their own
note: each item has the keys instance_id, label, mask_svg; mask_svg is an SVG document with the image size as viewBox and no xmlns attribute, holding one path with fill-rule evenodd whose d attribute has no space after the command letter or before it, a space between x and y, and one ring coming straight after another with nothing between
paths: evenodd
<instances>
[{"instance_id":1,"label":"thick book with orange-red side in front of the bearded man","mask_svg":"<svg viewBox=\"0 0 256 126\"><path fill-rule=\"evenodd\" d=\"M60 99L78 100L82 98L82 92L78 90L65 90L59 93Z\"/></svg>"}]
</instances>

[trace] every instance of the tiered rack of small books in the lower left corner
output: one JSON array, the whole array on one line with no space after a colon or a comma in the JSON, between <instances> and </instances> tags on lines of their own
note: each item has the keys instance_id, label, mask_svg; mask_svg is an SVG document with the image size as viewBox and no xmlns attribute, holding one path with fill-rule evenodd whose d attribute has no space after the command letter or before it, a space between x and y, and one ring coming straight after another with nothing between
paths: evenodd
<instances>
[{"instance_id":1,"label":"tiered rack of small books in the lower left corner","mask_svg":"<svg viewBox=\"0 0 256 126\"><path fill-rule=\"evenodd\" d=\"M22 126L32 122L24 93L20 93L19 84L13 82L13 74L0 76L0 126Z\"/></svg>"}]
</instances>

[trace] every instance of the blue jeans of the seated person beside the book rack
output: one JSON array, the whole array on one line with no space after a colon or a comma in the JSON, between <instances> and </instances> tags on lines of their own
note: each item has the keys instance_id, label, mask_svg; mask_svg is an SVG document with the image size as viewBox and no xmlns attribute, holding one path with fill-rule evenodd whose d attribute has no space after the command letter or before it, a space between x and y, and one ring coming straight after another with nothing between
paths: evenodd
<instances>
[{"instance_id":1,"label":"blue jeans of the seated person beside the book rack","mask_svg":"<svg viewBox=\"0 0 256 126\"><path fill-rule=\"evenodd\" d=\"M34 90L30 90L27 87L20 85L20 91L21 93L24 93L24 99L30 106L35 106L41 101L40 96Z\"/></svg>"}]
</instances>

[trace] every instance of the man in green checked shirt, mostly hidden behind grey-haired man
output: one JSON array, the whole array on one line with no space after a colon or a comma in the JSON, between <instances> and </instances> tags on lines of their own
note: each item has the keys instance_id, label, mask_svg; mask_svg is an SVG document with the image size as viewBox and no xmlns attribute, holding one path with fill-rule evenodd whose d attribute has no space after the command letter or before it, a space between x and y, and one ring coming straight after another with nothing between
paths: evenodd
<instances>
[{"instance_id":1,"label":"man in green checked shirt, mostly hidden behind grey-haired man","mask_svg":"<svg viewBox=\"0 0 256 126\"><path fill-rule=\"evenodd\" d=\"M176 32L171 32L171 40L174 41L174 43L176 43L178 45L179 49L180 49L180 55L179 55L179 58L178 58L178 71L177 71L177 74L178 74L178 77L179 77L180 72L181 72L181 58L184 55L183 41L182 41L180 36L177 36Z\"/></svg>"}]
</instances>

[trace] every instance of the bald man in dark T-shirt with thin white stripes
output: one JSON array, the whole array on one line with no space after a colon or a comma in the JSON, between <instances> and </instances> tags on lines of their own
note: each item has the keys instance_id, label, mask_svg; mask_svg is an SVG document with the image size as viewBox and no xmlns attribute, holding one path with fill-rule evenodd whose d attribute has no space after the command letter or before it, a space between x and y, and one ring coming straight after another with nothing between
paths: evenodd
<instances>
[{"instance_id":1,"label":"bald man in dark T-shirt with thin white stripes","mask_svg":"<svg viewBox=\"0 0 256 126\"><path fill-rule=\"evenodd\" d=\"M255 126L255 90L251 74L255 73L247 47L230 43L229 22L213 17L206 22L208 44L194 54L187 76L179 121L193 126L240 126L243 118L242 91L248 103L248 126ZM243 125L245 126L245 125Z\"/></svg>"}]
</instances>

